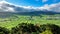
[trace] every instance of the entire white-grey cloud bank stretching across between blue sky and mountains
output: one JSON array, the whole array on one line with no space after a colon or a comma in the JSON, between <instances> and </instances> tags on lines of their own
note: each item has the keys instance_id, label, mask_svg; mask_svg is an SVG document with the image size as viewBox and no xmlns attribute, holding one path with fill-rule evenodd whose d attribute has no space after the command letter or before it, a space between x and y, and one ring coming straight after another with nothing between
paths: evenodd
<instances>
[{"instance_id":1,"label":"entire white-grey cloud bank stretching across between blue sky and mountains","mask_svg":"<svg viewBox=\"0 0 60 34\"><path fill-rule=\"evenodd\" d=\"M55 4L45 4L41 7L32 7L32 6L18 6L6 1L0 2L0 12L31 12L31 11L55 11L60 12L60 2Z\"/></svg>"}]
</instances>

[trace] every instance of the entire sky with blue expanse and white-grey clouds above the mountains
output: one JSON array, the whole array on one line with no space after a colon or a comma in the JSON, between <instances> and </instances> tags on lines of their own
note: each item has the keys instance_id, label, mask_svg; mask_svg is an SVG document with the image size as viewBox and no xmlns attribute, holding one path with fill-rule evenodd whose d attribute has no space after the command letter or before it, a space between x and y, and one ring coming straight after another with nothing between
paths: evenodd
<instances>
[{"instance_id":1,"label":"entire sky with blue expanse and white-grey clouds above the mountains","mask_svg":"<svg viewBox=\"0 0 60 34\"><path fill-rule=\"evenodd\" d=\"M23 11L24 8L60 12L60 0L0 0L0 11Z\"/></svg>"}]
</instances>

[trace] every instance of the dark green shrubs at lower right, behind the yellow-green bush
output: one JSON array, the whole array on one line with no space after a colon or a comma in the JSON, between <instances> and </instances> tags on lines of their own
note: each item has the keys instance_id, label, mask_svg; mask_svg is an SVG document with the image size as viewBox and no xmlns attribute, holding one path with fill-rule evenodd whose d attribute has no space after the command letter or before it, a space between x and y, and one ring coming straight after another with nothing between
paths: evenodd
<instances>
[{"instance_id":1,"label":"dark green shrubs at lower right, behind the yellow-green bush","mask_svg":"<svg viewBox=\"0 0 60 34\"><path fill-rule=\"evenodd\" d=\"M53 34L60 34L60 27L58 25L55 25L55 24L44 24L44 25L41 25L42 27L42 30L51 30L51 32Z\"/></svg>"}]
</instances>

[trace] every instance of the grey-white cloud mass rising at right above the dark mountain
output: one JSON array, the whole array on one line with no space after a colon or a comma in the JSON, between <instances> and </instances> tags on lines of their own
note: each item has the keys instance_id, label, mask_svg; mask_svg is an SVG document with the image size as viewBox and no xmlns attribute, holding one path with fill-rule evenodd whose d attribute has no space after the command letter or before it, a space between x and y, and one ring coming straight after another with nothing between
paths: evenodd
<instances>
[{"instance_id":1,"label":"grey-white cloud mass rising at right above the dark mountain","mask_svg":"<svg viewBox=\"0 0 60 34\"><path fill-rule=\"evenodd\" d=\"M42 7L39 7L39 9L41 10L48 10L48 11L55 11L55 12L60 12L60 2L59 3L56 3L56 4L45 4L44 6Z\"/></svg>"}]
</instances>

